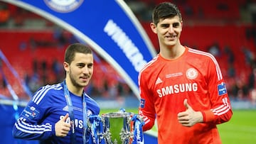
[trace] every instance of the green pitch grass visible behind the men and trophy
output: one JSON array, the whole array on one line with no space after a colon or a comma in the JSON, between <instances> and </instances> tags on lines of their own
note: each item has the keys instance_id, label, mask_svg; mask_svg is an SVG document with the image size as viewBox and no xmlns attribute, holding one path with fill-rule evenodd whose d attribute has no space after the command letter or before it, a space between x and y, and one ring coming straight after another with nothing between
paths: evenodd
<instances>
[{"instance_id":1,"label":"green pitch grass visible behind the men and trophy","mask_svg":"<svg viewBox=\"0 0 256 144\"><path fill-rule=\"evenodd\" d=\"M101 109L100 114L116 112L118 109ZM137 109L126 109L138 113ZM156 131L156 128L152 129ZM227 123L218 125L223 144L256 143L256 110L233 110L233 117Z\"/></svg>"}]
</instances>

